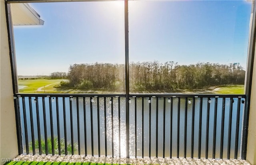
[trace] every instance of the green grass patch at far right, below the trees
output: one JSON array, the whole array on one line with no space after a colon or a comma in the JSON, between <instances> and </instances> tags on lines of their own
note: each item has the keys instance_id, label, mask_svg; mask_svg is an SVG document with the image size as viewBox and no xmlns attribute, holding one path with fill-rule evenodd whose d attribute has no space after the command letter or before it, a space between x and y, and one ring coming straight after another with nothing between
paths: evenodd
<instances>
[{"instance_id":1,"label":"green grass patch at far right, below the trees","mask_svg":"<svg viewBox=\"0 0 256 165\"><path fill-rule=\"evenodd\" d=\"M229 85L219 87L218 90L214 91L216 94L244 94L244 85Z\"/></svg>"}]
</instances>

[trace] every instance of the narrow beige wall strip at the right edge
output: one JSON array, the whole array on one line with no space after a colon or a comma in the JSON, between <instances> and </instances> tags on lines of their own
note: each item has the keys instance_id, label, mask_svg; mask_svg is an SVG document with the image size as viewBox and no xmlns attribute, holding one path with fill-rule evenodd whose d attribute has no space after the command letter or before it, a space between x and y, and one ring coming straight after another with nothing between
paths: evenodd
<instances>
[{"instance_id":1,"label":"narrow beige wall strip at the right edge","mask_svg":"<svg viewBox=\"0 0 256 165\"><path fill-rule=\"evenodd\" d=\"M256 58L254 58L254 69L252 77L252 93L250 101L250 115L248 127L248 143L246 159L256 165Z\"/></svg>"}]
</instances>

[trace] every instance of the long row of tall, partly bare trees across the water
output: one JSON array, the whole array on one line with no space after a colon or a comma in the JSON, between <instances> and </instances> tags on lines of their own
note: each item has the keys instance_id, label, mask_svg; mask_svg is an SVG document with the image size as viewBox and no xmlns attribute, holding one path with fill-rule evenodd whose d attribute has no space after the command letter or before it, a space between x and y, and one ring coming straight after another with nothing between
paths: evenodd
<instances>
[{"instance_id":1,"label":"long row of tall, partly bare trees across the water","mask_svg":"<svg viewBox=\"0 0 256 165\"><path fill-rule=\"evenodd\" d=\"M130 90L196 89L226 84L244 84L245 71L239 63L178 65L173 61L130 63ZM69 81L62 87L124 91L125 65L111 63L70 65Z\"/></svg>"}]
</instances>

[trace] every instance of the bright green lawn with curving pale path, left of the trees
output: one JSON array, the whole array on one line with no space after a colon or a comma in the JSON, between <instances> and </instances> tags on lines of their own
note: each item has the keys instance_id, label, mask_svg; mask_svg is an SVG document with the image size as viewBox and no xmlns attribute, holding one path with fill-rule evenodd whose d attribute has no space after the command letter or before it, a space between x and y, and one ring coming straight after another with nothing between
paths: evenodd
<instances>
[{"instance_id":1,"label":"bright green lawn with curving pale path, left of the trees","mask_svg":"<svg viewBox=\"0 0 256 165\"><path fill-rule=\"evenodd\" d=\"M42 86L46 86L49 84L53 84L53 83L60 83L61 81L63 81L63 79L37 79L37 80L19 80L18 84L19 85L26 85L25 88L22 88L19 90L20 93L44 93L44 92L35 92L38 88L42 87ZM55 86L56 84L50 85L47 88L47 90L56 90L53 86ZM42 90L45 90L44 88L42 88Z\"/></svg>"}]
</instances>

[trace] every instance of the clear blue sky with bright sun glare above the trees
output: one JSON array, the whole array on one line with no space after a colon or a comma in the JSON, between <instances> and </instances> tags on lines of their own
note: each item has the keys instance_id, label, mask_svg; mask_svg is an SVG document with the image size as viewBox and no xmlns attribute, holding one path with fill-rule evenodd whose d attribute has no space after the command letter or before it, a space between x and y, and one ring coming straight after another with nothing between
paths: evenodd
<instances>
[{"instance_id":1,"label":"clear blue sky with bright sun glare above the trees","mask_svg":"<svg viewBox=\"0 0 256 165\"><path fill-rule=\"evenodd\" d=\"M14 27L18 75L74 63L124 63L124 1L30 4L43 26ZM251 2L130 1L130 61L240 63L246 67Z\"/></svg>"}]
</instances>

